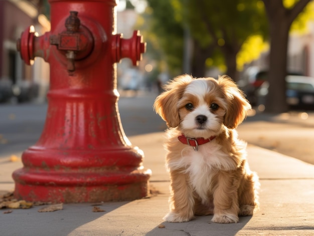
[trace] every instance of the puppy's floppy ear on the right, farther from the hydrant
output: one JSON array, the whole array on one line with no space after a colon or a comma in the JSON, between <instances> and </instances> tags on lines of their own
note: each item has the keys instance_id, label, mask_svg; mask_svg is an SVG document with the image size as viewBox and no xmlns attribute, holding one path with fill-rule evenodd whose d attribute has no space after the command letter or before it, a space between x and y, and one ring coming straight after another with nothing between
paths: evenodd
<instances>
[{"instance_id":1,"label":"puppy's floppy ear on the right, farther from the hydrant","mask_svg":"<svg viewBox=\"0 0 314 236\"><path fill-rule=\"evenodd\" d=\"M218 84L226 95L227 110L224 117L224 125L229 129L236 128L247 116L247 111L251 105L244 98L243 92L228 76L222 76L218 79Z\"/></svg>"}]
</instances>

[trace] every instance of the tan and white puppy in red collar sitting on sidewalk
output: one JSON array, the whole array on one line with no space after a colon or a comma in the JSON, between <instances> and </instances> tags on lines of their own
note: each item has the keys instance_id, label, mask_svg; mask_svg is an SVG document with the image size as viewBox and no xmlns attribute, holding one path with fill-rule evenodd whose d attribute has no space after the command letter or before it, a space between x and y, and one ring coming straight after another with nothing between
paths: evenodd
<instances>
[{"instance_id":1,"label":"tan and white puppy in red collar sitting on sidewalk","mask_svg":"<svg viewBox=\"0 0 314 236\"><path fill-rule=\"evenodd\" d=\"M227 76L175 78L154 102L169 127L166 164L171 176L169 222L213 214L232 223L258 208L256 173L235 128L251 108Z\"/></svg>"}]
</instances>

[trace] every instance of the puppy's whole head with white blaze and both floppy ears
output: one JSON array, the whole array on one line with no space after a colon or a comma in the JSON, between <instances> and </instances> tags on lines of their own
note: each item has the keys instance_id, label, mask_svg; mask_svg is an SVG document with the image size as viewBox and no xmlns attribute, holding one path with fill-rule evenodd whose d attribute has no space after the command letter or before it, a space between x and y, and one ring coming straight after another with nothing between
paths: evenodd
<instances>
[{"instance_id":1,"label":"puppy's whole head with white blaze and both floppy ears","mask_svg":"<svg viewBox=\"0 0 314 236\"><path fill-rule=\"evenodd\" d=\"M176 77L158 96L155 111L169 127L179 127L189 137L217 135L222 125L236 128L245 118L250 104L227 76L194 79Z\"/></svg>"}]
</instances>

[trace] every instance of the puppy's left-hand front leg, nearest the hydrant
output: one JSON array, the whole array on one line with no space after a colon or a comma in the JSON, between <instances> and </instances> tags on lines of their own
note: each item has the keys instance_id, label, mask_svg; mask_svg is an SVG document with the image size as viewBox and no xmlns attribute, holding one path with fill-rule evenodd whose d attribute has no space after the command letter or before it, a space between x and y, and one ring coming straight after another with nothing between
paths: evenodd
<instances>
[{"instance_id":1,"label":"puppy's left-hand front leg, nearest the hydrant","mask_svg":"<svg viewBox=\"0 0 314 236\"><path fill-rule=\"evenodd\" d=\"M171 171L170 212L164 217L168 222L185 222L194 218L193 190L189 176L180 170Z\"/></svg>"}]
</instances>

